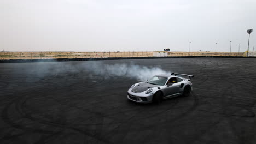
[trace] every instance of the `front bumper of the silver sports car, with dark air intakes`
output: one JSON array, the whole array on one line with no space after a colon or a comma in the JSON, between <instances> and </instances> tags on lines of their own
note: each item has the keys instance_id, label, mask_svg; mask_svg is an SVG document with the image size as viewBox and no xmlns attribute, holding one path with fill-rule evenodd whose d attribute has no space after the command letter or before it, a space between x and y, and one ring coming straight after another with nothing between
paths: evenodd
<instances>
[{"instance_id":1,"label":"front bumper of the silver sports car, with dark air intakes","mask_svg":"<svg viewBox=\"0 0 256 144\"><path fill-rule=\"evenodd\" d=\"M129 89L127 92L127 99L135 101L136 103L151 103L153 95L153 93L145 94L145 92L135 93Z\"/></svg>"}]
</instances>

